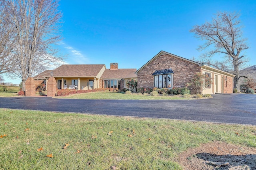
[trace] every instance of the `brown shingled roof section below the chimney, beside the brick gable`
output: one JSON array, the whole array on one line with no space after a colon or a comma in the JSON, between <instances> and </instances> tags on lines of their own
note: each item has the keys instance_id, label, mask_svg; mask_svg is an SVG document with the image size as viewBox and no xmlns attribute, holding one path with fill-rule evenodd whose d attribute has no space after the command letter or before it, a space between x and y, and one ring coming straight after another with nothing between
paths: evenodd
<instances>
[{"instance_id":1,"label":"brown shingled roof section below the chimney, beside the brick gable","mask_svg":"<svg viewBox=\"0 0 256 170\"><path fill-rule=\"evenodd\" d=\"M116 78L137 78L136 68L128 68L128 69L119 69L118 70L110 70L106 69L102 74L101 78L103 79L116 79Z\"/></svg>"}]
</instances>

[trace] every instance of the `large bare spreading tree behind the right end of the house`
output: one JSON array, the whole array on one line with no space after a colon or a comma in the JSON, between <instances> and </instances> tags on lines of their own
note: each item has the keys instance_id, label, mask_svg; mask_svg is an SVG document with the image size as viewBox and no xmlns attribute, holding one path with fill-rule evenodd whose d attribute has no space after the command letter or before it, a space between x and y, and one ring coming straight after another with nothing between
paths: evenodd
<instances>
[{"instance_id":1,"label":"large bare spreading tree behind the right end of the house","mask_svg":"<svg viewBox=\"0 0 256 170\"><path fill-rule=\"evenodd\" d=\"M240 67L248 60L242 54L248 49L247 39L242 36L242 27L240 25L239 14L218 12L212 22L206 22L203 25L196 25L190 32L195 33L195 37L205 41L199 46L199 50L206 52L202 55L204 59L223 54L224 61L216 63L208 60L209 64L221 70L229 71L234 74L234 88L239 90Z\"/></svg>"}]
</instances>

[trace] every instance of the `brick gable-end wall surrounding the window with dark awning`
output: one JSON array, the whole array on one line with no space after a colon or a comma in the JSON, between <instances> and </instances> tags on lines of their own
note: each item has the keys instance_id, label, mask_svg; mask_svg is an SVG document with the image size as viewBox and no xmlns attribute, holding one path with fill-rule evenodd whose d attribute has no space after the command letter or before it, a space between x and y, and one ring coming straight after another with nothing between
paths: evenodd
<instances>
[{"instance_id":1,"label":"brick gable-end wall surrounding the window with dark awning","mask_svg":"<svg viewBox=\"0 0 256 170\"><path fill-rule=\"evenodd\" d=\"M201 72L201 67L197 64L168 54L160 55L138 72L138 88L153 88L154 77L152 74L156 70L169 68L174 72L173 87L185 87L186 83L190 82L195 72ZM196 93L196 90L192 87L190 87L190 91L191 93Z\"/></svg>"}]
</instances>

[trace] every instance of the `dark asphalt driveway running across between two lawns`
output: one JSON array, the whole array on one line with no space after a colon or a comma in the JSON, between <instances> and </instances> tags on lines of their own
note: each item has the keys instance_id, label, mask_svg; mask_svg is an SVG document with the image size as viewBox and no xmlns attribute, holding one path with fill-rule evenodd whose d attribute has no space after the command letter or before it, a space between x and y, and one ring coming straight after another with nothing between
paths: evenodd
<instances>
[{"instance_id":1,"label":"dark asphalt driveway running across between two lawns","mask_svg":"<svg viewBox=\"0 0 256 170\"><path fill-rule=\"evenodd\" d=\"M204 100L0 98L0 107L256 125L256 95L215 94Z\"/></svg>"}]
</instances>

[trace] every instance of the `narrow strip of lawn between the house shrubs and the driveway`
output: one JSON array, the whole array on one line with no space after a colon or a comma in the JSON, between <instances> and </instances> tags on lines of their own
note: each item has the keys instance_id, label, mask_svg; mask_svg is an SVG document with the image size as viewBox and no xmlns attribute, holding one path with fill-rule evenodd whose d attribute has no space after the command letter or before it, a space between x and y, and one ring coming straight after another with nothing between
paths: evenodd
<instances>
[{"instance_id":1,"label":"narrow strip of lawn between the house shrubs and the driveway","mask_svg":"<svg viewBox=\"0 0 256 170\"><path fill-rule=\"evenodd\" d=\"M182 95L173 96L150 96L149 94L133 93L117 93L117 92L91 92L74 94L65 97L68 99L116 99L116 100L191 100L192 98L184 98Z\"/></svg>"}]
</instances>

